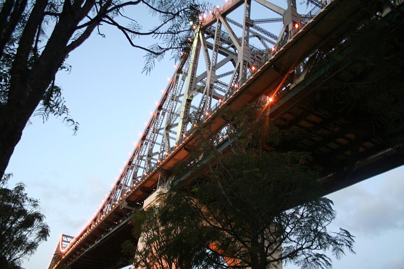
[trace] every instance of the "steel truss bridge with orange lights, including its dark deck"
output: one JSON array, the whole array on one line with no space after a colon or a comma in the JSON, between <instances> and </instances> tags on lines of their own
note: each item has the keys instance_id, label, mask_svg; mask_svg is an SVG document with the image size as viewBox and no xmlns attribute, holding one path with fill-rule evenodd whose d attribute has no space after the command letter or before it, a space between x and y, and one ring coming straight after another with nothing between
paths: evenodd
<instances>
[{"instance_id":1,"label":"steel truss bridge with orange lights, including its dark deck","mask_svg":"<svg viewBox=\"0 0 404 269\"><path fill-rule=\"evenodd\" d=\"M363 48L369 46L376 50L369 59L381 53L380 37L398 36L403 43L403 0L308 2L305 15L297 13L295 0L287 0L286 9L266 0L233 0L201 15L189 53L183 53L108 198L76 237L61 234L48 268L116 267L121 243L132 238L131 212L158 184L183 180L171 171L197 140L195 123L220 132L226 123L218 111L224 107L236 111L273 98L268 117L284 139L267 149L310 152L309 165L322 174L327 193L404 164L404 129L367 106L369 98L391 109L403 106L404 74L372 80L377 67L355 57L366 57ZM388 26L394 21L401 32ZM279 35L271 32L274 25ZM362 38L369 27L379 37L372 43ZM378 96L360 97L356 105L346 101L353 98L347 93L364 91L357 85L372 93L377 83L385 87ZM227 144L218 141L222 148Z\"/></svg>"}]
</instances>

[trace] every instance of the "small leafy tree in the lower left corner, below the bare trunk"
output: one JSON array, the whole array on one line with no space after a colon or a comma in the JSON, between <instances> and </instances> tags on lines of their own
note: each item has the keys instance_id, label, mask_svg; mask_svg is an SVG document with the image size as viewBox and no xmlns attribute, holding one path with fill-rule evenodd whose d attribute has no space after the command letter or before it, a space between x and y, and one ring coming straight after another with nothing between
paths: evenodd
<instances>
[{"instance_id":1,"label":"small leafy tree in the lower left corner, below the bare trunk","mask_svg":"<svg viewBox=\"0 0 404 269\"><path fill-rule=\"evenodd\" d=\"M27 196L24 184L7 188L11 174L0 180L0 267L18 267L21 259L32 255L46 241L49 227L38 211L39 202Z\"/></svg>"}]
</instances>

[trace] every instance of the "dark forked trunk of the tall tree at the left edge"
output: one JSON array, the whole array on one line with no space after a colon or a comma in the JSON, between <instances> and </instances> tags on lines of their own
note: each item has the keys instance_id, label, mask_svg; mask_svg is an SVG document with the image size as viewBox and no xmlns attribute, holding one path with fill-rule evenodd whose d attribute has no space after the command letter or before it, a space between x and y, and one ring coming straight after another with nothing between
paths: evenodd
<instances>
[{"instance_id":1,"label":"dark forked trunk of the tall tree at the left edge","mask_svg":"<svg viewBox=\"0 0 404 269\"><path fill-rule=\"evenodd\" d=\"M11 69L12 79L8 100L0 114L1 177L5 173L15 146L21 139L25 125L69 52L67 44L75 32L77 24L91 10L94 1L88 0L83 7L79 5L75 9L71 7L70 2L64 3L59 22L49 37L46 47L35 65L28 70L29 53L38 26L42 23L46 5L47 0L35 3L21 36Z\"/></svg>"}]
</instances>

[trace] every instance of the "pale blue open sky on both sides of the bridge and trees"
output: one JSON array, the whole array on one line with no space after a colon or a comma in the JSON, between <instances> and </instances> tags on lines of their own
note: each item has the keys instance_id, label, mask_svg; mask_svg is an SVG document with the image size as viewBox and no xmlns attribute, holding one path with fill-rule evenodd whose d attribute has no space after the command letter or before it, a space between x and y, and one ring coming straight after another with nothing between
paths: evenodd
<instances>
[{"instance_id":1,"label":"pale blue open sky on both sides of the bridge and trees","mask_svg":"<svg viewBox=\"0 0 404 269\"><path fill-rule=\"evenodd\" d=\"M10 185L22 181L29 196L40 199L51 227L48 241L23 263L27 269L45 268L60 233L75 236L95 213L174 72L175 63L167 57L151 76L142 75L144 53L117 31L104 33L107 38L93 35L73 51L68 59L72 71L57 77L80 123L77 136L60 119L42 124L33 118L7 169L14 173ZM329 196L338 212L333 227L348 229L357 242L357 254L334 261L334 268L404 268L403 176L399 168Z\"/></svg>"}]
</instances>

